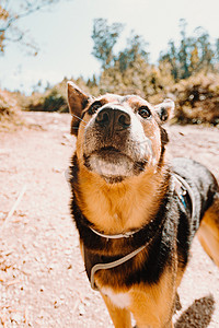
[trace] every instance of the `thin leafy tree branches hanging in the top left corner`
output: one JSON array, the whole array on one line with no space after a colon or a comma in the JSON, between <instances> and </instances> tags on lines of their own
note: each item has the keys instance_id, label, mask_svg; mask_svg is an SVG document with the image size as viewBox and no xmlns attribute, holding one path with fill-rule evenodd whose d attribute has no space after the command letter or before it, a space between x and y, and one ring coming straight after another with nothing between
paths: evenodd
<instances>
[{"instance_id":1,"label":"thin leafy tree branches hanging in the top left corner","mask_svg":"<svg viewBox=\"0 0 219 328\"><path fill-rule=\"evenodd\" d=\"M13 3L12 3L13 2ZM18 27L18 22L34 12L42 10L59 0L1 0L0 3L0 55L3 55L8 43L19 42L27 46L33 55L38 48L26 38L26 32Z\"/></svg>"}]
</instances>

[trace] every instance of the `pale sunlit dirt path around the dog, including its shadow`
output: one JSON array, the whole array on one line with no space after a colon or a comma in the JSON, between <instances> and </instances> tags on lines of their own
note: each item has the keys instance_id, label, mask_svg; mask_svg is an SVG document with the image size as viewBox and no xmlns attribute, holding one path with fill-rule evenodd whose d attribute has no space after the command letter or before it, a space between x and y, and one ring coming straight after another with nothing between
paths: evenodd
<instances>
[{"instance_id":1,"label":"pale sunlit dirt path around the dog, including its shadow","mask_svg":"<svg viewBox=\"0 0 219 328\"><path fill-rule=\"evenodd\" d=\"M0 133L0 327L113 327L87 280L69 215L65 172L74 145L70 117L24 115L32 129ZM194 157L219 178L219 130L169 130L171 155ZM197 241L193 255L178 291L182 309L175 327L218 328L219 270Z\"/></svg>"}]
</instances>

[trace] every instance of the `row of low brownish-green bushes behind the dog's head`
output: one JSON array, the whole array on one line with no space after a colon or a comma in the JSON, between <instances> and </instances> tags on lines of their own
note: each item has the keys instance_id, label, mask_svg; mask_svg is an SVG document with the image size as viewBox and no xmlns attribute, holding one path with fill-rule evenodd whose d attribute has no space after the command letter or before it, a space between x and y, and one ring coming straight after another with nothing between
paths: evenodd
<instances>
[{"instance_id":1,"label":"row of low brownish-green bushes behind the dog's head","mask_svg":"<svg viewBox=\"0 0 219 328\"><path fill-rule=\"evenodd\" d=\"M85 82L83 78L73 82L93 96L107 92L138 94L154 105L171 97L176 104L176 122L219 125L218 73L200 72L174 84L168 63L160 63L158 68L138 58L123 73L115 63L101 73L99 82ZM27 110L68 113L67 79L44 94L33 93L23 102L23 107Z\"/></svg>"}]
</instances>

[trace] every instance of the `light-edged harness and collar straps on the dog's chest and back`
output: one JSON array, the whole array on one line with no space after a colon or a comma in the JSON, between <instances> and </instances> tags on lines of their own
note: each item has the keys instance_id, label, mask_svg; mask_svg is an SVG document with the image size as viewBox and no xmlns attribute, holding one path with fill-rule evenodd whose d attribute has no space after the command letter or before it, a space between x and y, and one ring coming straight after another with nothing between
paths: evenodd
<instances>
[{"instance_id":1,"label":"light-edged harness and collar straps on the dog's chest and back","mask_svg":"<svg viewBox=\"0 0 219 328\"><path fill-rule=\"evenodd\" d=\"M193 194L192 188L189 187L189 185L187 184L187 181L181 177L178 174L174 173L173 174L173 186L172 189L173 191L175 190L181 203L184 206L184 208L186 209L186 202L185 202L185 197L188 196L191 199L191 204L192 204L192 210L191 210L191 216L194 218L195 215L195 197ZM130 238L134 237L134 235L136 233L138 233L141 229L134 231L134 232L126 232L126 233L122 233L122 234L115 234L115 235L107 235L107 234L102 234L99 231L90 227L90 230L96 234L100 237L106 238L108 239L119 239L119 238ZM159 229L158 229L159 231ZM111 261L111 262L102 262L102 263L96 263L96 265L92 265L91 269L90 266L88 265L88 256L87 256L87 250L82 244L82 253L83 253L83 257L84 257L84 263L85 263L85 269L87 269L87 273L89 276L90 279L90 283L91 283L91 288L95 291L99 291L99 289L95 285L94 282L94 274L96 271L99 270L107 270L107 269L112 269L115 267L118 267L125 262L127 262L129 259L134 258L136 255L138 255L141 250L143 250L147 246L149 246L149 244L153 241L153 238L157 236L157 234L154 234L147 243L146 245L140 246L139 248L135 249L134 251L129 253L128 255Z\"/></svg>"}]
</instances>

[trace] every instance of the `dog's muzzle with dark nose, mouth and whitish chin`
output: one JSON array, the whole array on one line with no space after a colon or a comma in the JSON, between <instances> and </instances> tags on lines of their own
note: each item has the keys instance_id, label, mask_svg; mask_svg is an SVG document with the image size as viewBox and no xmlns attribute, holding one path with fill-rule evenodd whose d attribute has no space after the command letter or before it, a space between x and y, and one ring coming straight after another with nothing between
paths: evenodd
<instances>
[{"instance_id":1,"label":"dog's muzzle with dark nose, mouth and whitish chin","mask_svg":"<svg viewBox=\"0 0 219 328\"><path fill-rule=\"evenodd\" d=\"M105 105L84 132L84 165L115 181L140 174L151 157L150 140L132 114Z\"/></svg>"}]
</instances>

